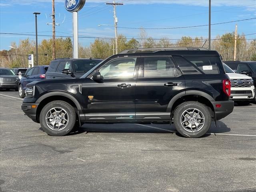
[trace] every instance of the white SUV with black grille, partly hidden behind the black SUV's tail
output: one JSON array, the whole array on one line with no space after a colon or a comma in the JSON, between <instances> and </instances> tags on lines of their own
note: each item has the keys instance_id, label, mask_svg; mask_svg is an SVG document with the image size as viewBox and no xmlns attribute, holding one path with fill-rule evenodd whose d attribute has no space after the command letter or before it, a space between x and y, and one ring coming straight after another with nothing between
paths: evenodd
<instances>
[{"instance_id":1,"label":"white SUV with black grille, partly hidden behind the black SUV's tail","mask_svg":"<svg viewBox=\"0 0 256 192\"><path fill-rule=\"evenodd\" d=\"M254 100L255 88L252 77L237 74L224 63L223 66L231 82L230 99L236 101L237 104L248 105L251 100Z\"/></svg>"}]
</instances>

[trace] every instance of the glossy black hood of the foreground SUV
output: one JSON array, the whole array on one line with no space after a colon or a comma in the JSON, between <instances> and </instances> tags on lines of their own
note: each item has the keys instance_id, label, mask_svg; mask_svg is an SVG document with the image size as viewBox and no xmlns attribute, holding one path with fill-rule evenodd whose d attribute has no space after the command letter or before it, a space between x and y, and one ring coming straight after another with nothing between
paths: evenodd
<instances>
[{"instance_id":1,"label":"glossy black hood of the foreground SUV","mask_svg":"<svg viewBox=\"0 0 256 192\"><path fill-rule=\"evenodd\" d=\"M76 78L57 78L57 79L43 79L40 81L33 81L27 86L33 86L33 85L51 85L51 84L72 84L76 83L78 79Z\"/></svg>"}]
</instances>

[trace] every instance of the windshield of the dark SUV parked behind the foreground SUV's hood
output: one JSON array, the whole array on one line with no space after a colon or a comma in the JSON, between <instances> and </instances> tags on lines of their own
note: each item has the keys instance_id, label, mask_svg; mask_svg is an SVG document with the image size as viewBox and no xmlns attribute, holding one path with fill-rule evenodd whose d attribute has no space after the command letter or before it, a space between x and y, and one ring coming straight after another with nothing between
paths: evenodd
<instances>
[{"instance_id":1,"label":"windshield of the dark SUV parked behind the foreground SUV's hood","mask_svg":"<svg viewBox=\"0 0 256 192\"><path fill-rule=\"evenodd\" d=\"M91 68L96 66L101 60L75 60L73 61L75 72L88 72Z\"/></svg>"}]
</instances>

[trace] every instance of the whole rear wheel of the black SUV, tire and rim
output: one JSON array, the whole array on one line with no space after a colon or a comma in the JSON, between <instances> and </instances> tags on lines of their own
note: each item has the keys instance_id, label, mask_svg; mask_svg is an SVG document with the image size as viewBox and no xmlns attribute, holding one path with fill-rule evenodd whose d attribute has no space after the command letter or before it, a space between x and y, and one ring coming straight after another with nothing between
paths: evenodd
<instances>
[{"instance_id":1,"label":"whole rear wheel of the black SUV, tire and rim","mask_svg":"<svg viewBox=\"0 0 256 192\"><path fill-rule=\"evenodd\" d=\"M203 136L209 130L211 122L211 112L199 102L184 102L174 112L174 125L177 131L187 138Z\"/></svg>"}]
</instances>

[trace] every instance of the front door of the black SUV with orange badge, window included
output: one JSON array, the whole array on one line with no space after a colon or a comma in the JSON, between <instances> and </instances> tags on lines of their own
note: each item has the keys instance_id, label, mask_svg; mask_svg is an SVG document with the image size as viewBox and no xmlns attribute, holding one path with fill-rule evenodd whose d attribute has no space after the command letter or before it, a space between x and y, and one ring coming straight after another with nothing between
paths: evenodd
<instances>
[{"instance_id":1,"label":"front door of the black SUV with orange badge, window included","mask_svg":"<svg viewBox=\"0 0 256 192\"><path fill-rule=\"evenodd\" d=\"M101 82L89 79L82 84L87 122L135 121L135 66L137 58L116 58L96 72Z\"/></svg>"}]
</instances>

